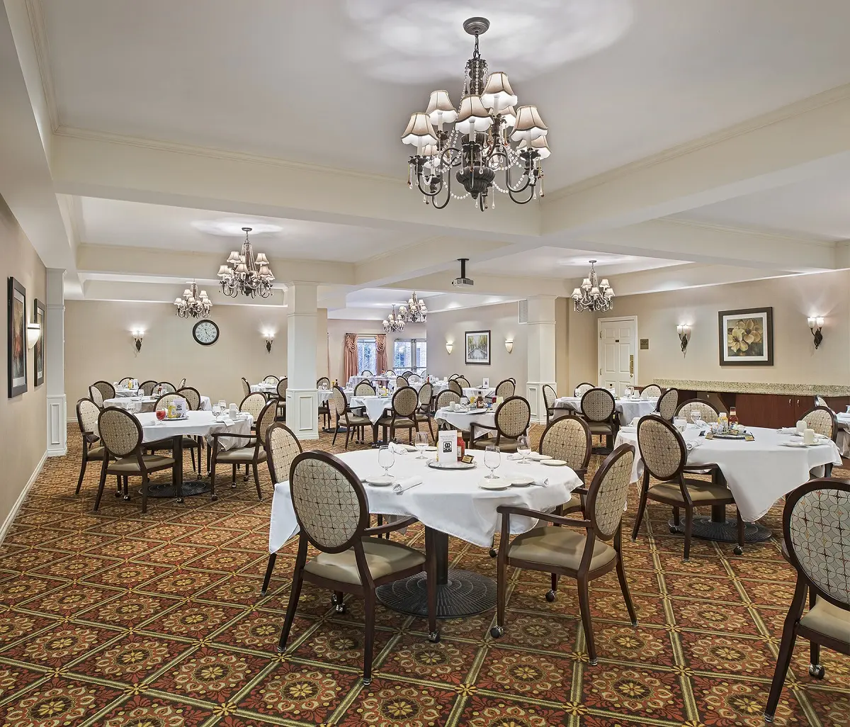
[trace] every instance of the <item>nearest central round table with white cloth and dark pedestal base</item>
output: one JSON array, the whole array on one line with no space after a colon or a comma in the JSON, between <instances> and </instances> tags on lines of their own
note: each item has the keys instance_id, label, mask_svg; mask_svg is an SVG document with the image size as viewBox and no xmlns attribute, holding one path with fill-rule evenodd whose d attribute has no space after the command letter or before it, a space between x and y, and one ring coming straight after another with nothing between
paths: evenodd
<instances>
[{"instance_id":1,"label":"nearest central round table with white cloth and dark pedestal base","mask_svg":"<svg viewBox=\"0 0 850 727\"><path fill-rule=\"evenodd\" d=\"M399 448L400 449L400 448ZM395 481L405 489L393 486L371 486L370 477L382 474L375 450L360 450L337 455L364 480L364 489L372 514L413 516L426 528L426 542L433 544L437 560L437 617L471 616L488 611L496 604L496 582L471 571L449 567L449 537L457 537L481 548L490 548L493 536L501 527L500 505L513 505L536 510L552 510L570 501L570 493L582 486L581 478L567 466L549 467L538 462L521 464L501 455L496 474L505 480L506 489L485 490L479 486L488 470L483 452L476 453L473 469L433 469L428 461L435 452L419 459L416 452L400 452L389 469ZM511 475L533 477L534 485L507 486ZM529 517L512 517L511 532L530 531L540 524ZM545 525L545 523L543 524ZM275 484L269 522L269 553L276 553L298 531L289 482ZM417 574L377 589L378 599L394 611L414 616L428 615L425 574Z\"/></svg>"}]
</instances>

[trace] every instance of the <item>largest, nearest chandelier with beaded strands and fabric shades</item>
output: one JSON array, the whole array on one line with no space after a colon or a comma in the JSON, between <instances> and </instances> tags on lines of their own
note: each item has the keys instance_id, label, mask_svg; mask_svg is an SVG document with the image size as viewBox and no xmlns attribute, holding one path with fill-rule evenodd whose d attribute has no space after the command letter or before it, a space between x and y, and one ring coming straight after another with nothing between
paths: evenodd
<instances>
[{"instance_id":1,"label":"largest, nearest chandelier with beaded strands and fabric shades","mask_svg":"<svg viewBox=\"0 0 850 727\"><path fill-rule=\"evenodd\" d=\"M494 203L488 202L492 187L513 202L526 204L536 198L538 181L543 196L541 161L550 154L548 129L536 106L514 109L517 97L507 73L488 73L487 61L479 54L479 36L489 27L486 18L463 23L463 29L475 36L475 50L467 60L461 104L453 105L448 91L433 91L427 111L411 115L401 136L405 144L416 147L408 162L407 185L415 184L425 204L437 209L443 209L451 197L472 196L484 212ZM453 169L466 190L462 196L451 190ZM496 173L503 179L501 186Z\"/></svg>"}]
</instances>

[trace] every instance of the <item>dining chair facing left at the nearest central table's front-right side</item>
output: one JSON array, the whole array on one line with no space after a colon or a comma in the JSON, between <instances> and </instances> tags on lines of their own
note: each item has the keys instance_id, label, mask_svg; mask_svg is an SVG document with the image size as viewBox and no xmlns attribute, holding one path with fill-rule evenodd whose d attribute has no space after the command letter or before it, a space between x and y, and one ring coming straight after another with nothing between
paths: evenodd
<instances>
[{"instance_id":1,"label":"dining chair facing left at the nearest central table's front-right side","mask_svg":"<svg viewBox=\"0 0 850 727\"><path fill-rule=\"evenodd\" d=\"M623 444L605 459L587 488L584 520L513 505L500 505L497 508L501 513L501 538L496 576L496 626L490 629L493 638L498 639L505 633L508 565L528 571L551 573L552 590L547 594L549 601L555 599L558 576L575 579L579 592L581 625L591 666L598 663L590 612L588 586L591 581L616 570L632 626L638 625L638 615L632 605L632 595L629 593L623 566L621 536L621 522L629 482L632 479L634 457L634 447ZM536 518L560 527L536 527L514 537L511 542L512 515ZM576 532L572 528L581 528L584 532Z\"/></svg>"}]
</instances>

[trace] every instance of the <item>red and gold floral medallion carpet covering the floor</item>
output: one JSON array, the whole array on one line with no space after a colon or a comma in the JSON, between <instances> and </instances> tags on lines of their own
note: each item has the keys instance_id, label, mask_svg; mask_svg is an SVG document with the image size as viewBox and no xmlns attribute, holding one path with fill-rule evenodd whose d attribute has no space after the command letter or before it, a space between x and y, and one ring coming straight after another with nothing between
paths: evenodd
<instances>
[{"instance_id":1,"label":"red and gold floral medallion carpet covering the floor","mask_svg":"<svg viewBox=\"0 0 850 727\"><path fill-rule=\"evenodd\" d=\"M549 604L548 576L512 571L497 641L492 614L443 622L432 645L424 622L379 607L375 679L363 687L357 601L336 616L330 594L305 585L291 649L276 653L294 549L260 597L268 474L262 503L240 481L216 503L154 501L144 518L138 496L107 492L94 514L96 466L74 496L76 429L0 546L0 725L763 724L793 590L774 541L737 558L698 540L683 564L668 511L650 505L649 535L626 538L624 557L638 628L613 572L591 586L598 666L587 663L575 587L562 580ZM764 520L774 532L780 512ZM418 528L406 536L422 539ZM495 576L484 550L451 548L456 564ZM775 724L850 724L850 659L823 650L822 662L826 678L810 678L798 642Z\"/></svg>"}]
</instances>

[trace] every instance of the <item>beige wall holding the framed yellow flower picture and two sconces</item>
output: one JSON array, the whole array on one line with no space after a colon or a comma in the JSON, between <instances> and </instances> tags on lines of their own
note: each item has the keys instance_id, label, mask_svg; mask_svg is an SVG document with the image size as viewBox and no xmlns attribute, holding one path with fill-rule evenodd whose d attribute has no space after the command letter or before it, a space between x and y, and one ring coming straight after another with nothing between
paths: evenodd
<instances>
[{"instance_id":1,"label":"beige wall holding the framed yellow flower picture and two sconces","mask_svg":"<svg viewBox=\"0 0 850 727\"><path fill-rule=\"evenodd\" d=\"M768 305L774 308L774 366L720 366L717 311ZM649 338L649 350L638 350L638 383L642 385L654 378L850 383L850 270L626 296L615 299L614 314L637 315L638 338ZM819 349L814 348L806 322L814 314L826 319ZM588 318L592 321L592 316ZM685 356L676 333L680 323L692 328ZM570 361L584 351L583 367L593 375L595 321L581 331L581 338L576 332L574 340L572 333L571 327Z\"/></svg>"}]
</instances>

